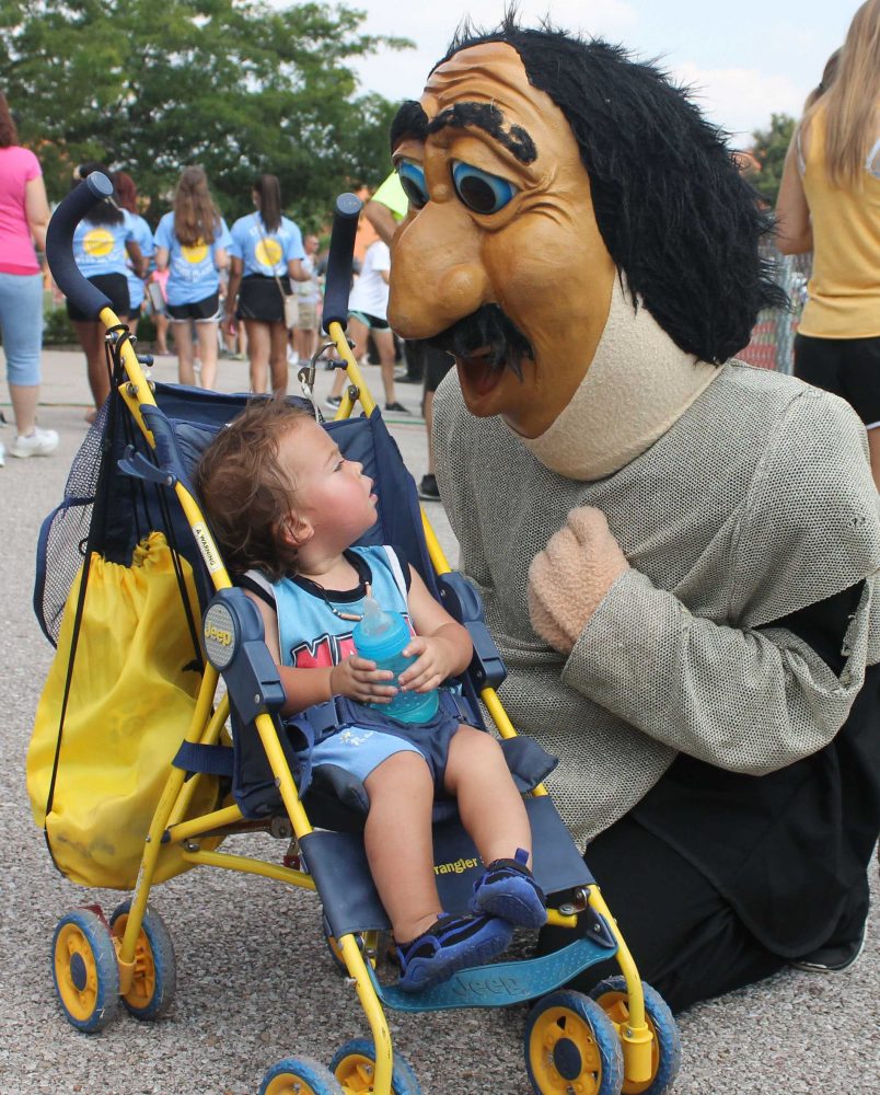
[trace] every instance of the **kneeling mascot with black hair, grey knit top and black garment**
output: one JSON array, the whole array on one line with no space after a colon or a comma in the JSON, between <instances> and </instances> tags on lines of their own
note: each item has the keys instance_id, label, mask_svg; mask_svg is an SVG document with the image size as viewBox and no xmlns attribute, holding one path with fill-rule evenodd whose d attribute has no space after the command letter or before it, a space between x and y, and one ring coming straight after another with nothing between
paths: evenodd
<instances>
[{"instance_id":1,"label":"kneeling mascot with black hair, grey knit top and black garment","mask_svg":"<svg viewBox=\"0 0 880 1095\"><path fill-rule=\"evenodd\" d=\"M461 567L641 973L678 1008L846 965L880 818L877 492L846 404L733 359L783 296L721 136L650 65L507 19L459 35L392 151L389 318L455 358Z\"/></svg>"}]
</instances>

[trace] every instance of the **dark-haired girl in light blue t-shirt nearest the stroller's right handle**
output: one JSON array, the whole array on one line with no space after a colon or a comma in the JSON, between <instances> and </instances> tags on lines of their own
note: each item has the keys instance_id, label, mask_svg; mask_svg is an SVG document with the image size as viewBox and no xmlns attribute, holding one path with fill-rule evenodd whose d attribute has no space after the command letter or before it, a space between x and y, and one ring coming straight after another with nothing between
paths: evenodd
<instances>
[{"instance_id":1,"label":"dark-haired girl in light blue t-shirt nearest the stroller's right handle","mask_svg":"<svg viewBox=\"0 0 880 1095\"><path fill-rule=\"evenodd\" d=\"M266 391L271 371L275 395L287 392L288 328L283 297L292 292L290 279L308 281L303 267L302 234L281 216L281 186L276 175L259 175L254 184L256 212L232 226L231 266L223 326L231 332L238 316L247 332L251 391ZM238 311L235 297L238 295Z\"/></svg>"}]
</instances>

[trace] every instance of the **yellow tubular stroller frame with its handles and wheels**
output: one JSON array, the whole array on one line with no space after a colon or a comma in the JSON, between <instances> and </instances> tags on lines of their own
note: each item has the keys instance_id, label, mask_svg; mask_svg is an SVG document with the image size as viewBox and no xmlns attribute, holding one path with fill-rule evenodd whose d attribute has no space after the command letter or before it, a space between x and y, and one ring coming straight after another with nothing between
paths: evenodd
<instances>
[{"instance_id":1,"label":"yellow tubular stroller frame with its handles and wheels","mask_svg":"<svg viewBox=\"0 0 880 1095\"><path fill-rule=\"evenodd\" d=\"M80 187L61 203L49 228L48 256L56 280L65 292L74 298L89 314L100 316L107 327L107 341L113 354L121 364L124 380L118 384L118 395L130 412L147 443L155 451L157 439L144 415L157 408L153 385L144 372L141 360L128 337L127 330L107 306L102 295L82 279L72 264L70 238L78 221L96 201L112 193L105 176L91 174ZM332 266L347 265L350 269L351 244L357 226L360 201L352 195L343 195L337 203L334 222ZM347 257L345 252L347 251ZM340 257L341 255L341 257ZM338 279L337 279L338 280ZM329 278L328 278L329 281ZM92 297L88 296L91 290ZM86 296L83 296L83 292ZM369 417L374 401L363 382L345 335L348 279L338 290L344 303L334 311L328 287L325 323L329 342L322 346L310 368L300 371L303 392L311 396L316 359L331 346L344 362L349 383L336 413L337 420L347 418L360 402ZM161 465L160 465L161 466ZM160 471L157 469L160 481ZM220 552L211 537L197 499L187 486L174 476L165 476L189 525L216 592L232 589L230 576ZM432 566L438 575L450 574L437 537L421 510L425 540ZM212 601L211 604L215 602ZM230 716L229 695L218 699L218 658L211 649L220 649L233 641L217 620L208 622L202 636L208 652L201 687L190 724L184 740L192 746L217 746ZM210 632L210 633L209 633ZM222 661L222 657L219 659ZM302 842L313 833L300 798L271 714L271 685L253 696L257 714L254 718L265 756L275 777L285 811L293 835ZM502 738L514 738L511 725L494 688L484 687L479 698L489 711ZM219 867L244 874L271 878L289 886L316 890L313 874L293 866L264 862L248 856L221 851L209 851L199 845L199 839L241 831L247 823L239 805L224 806L196 818L188 818L200 775L187 779L183 768L172 768L146 837L137 885L130 902L125 902L109 924L103 914L70 914L62 919L55 936L53 956L54 976L58 998L72 1025L84 1031L101 1029L113 1016L119 1000L139 1018L155 1018L163 1014L174 991L174 959L170 938L161 919L148 908L150 890L157 865L169 846L182 849L184 861L192 865ZM532 792L535 797L546 796L543 784ZM577 900L580 898L580 901ZM576 894L574 904L548 910L549 923L575 927L579 913L587 908L598 923L610 934L607 955L616 954L622 978L606 987L598 998L598 1006L584 1013L577 1002L568 998L576 993L556 993L553 1006L539 1014L526 1034L526 1063L536 1092L575 1092L583 1095L617 1095L618 1092L650 1092L665 1090L678 1069L678 1035L668 1008L657 993L642 986L636 965L617 929L597 885L589 885ZM107 931L109 929L109 931ZM597 929L598 930L598 929ZM303 1092L312 1095L345 1092L371 1092L373 1095L413 1095L418 1091L415 1077L403 1059L393 1052L378 982L372 971L378 950L378 931L343 934L338 940L328 934L349 983L355 988L372 1035L372 1052L363 1045L337 1057L333 1072L313 1062L288 1059L266 1074L260 1093L288 1095ZM595 960L595 959L593 959ZM524 964L520 964L524 965ZM489 967L495 970L500 967ZM577 972L572 970L571 972ZM534 988L534 986L532 987ZM558 999L556 999L558 998ZM521 995L519 999L525 999ZM583 998L589 1001L589 998ZM511 1001L516 1002L516 1001ZM442 1004L441 1006L455 1006ZM410 1010L419 1008L416 1002ZM560 1019L561 1016L561 1019ZM604 1018L603 1018L604 1017ZM574 1048L572 1048L574 1047ZM571 1063L574 1060L574 1064ZM574 1071L572 1071L574 1070ZM414 1086L415 1084L415 1086ZM572 1086L577 1084L577 1086Z\"/></svg>"}]
</instances>

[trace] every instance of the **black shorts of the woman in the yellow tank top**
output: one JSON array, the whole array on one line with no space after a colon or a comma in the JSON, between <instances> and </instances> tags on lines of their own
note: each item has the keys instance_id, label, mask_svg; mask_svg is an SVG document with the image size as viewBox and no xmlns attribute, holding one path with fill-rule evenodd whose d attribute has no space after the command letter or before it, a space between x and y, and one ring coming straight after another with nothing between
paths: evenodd
<instances>
[{"instance_id":1,"label":"black shorts of the woman in the yellow tank top","mask_svg":"<svg viewBox=\"0 0 880 1095\"><path fill-rule=\"evenodd\" d=\"M873 338L796 335L795 376L843 396L866 426L880 423L880 335Z\"/></svg>"}]
</instances>

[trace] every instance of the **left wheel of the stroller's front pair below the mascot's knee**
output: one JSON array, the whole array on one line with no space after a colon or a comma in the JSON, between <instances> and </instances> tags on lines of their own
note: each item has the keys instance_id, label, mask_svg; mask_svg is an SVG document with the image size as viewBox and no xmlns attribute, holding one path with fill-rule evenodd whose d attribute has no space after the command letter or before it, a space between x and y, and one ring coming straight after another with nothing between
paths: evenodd
<instances>
[{"instance_id":1,"label":"left wheel of the stroller's front pair below the mascot's knee","mask_svg":"<svg viewBox=\"0 0 880 1095\"><path fill-rule=\"evenodd\" d=\"M525 1024L525 1068L537 1095L620 1095L623 1049L614 1024L581 992L552 992Z\"/></svg>"}]
</instances>

